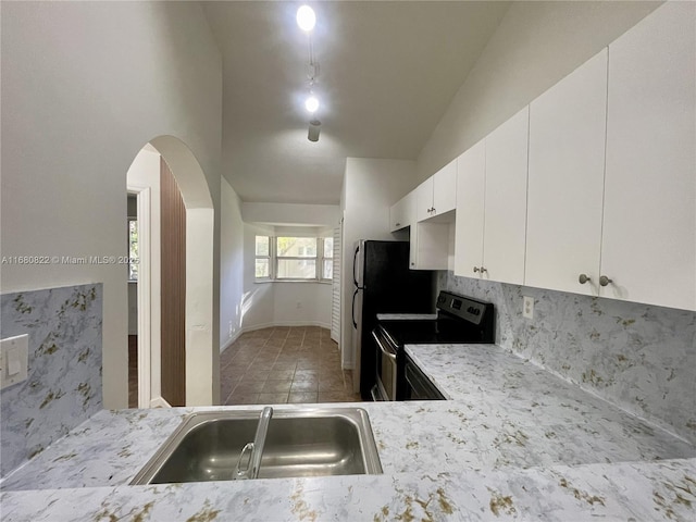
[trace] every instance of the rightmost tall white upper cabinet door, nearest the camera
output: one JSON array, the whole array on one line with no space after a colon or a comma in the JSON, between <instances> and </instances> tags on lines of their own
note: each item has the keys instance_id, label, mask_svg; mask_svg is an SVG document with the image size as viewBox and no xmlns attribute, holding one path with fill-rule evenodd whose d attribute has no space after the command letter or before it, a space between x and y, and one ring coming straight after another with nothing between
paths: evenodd
<instances>
[{"instance_id":1,"label":"rightmost tall white upper cabinet door, nearest the camera","mask_svg":"<svg viewBox=\"0 0 696 522\"><path fill-rule=\"evenodd\" d=\"M696 310L696 41L668 3L609 46L601 295Z\"/></svg>"}]
</instances>

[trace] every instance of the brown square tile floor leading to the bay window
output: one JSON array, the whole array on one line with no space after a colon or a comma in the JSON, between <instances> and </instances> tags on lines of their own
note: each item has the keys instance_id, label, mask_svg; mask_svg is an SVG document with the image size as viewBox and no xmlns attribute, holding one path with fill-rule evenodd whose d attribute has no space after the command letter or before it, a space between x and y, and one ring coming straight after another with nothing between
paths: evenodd
<instances>
[{"instance_id":1,"label":"brown square tile floor leading to the bay window","mask_svg":"<svg viewBox=\"0 0 696 522\"><path fill-rule=\"evenodd\" d=\"M319 326L277 326L243 334L220 355L223 405L355 402L338 345Z\"/></svg>"}]
</instances>

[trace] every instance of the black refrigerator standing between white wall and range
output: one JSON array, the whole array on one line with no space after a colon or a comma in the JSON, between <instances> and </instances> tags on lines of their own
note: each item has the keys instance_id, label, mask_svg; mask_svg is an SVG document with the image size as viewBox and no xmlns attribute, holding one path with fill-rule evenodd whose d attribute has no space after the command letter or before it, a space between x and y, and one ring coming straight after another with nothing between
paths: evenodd
<instances>
[{"instance_id":1,"label":"black refrigerator standing between white wall and range","mask_svg":"<svg viewBox=\"0 0 696 522\"><path fill-rule=\"evenodd\" d=\"M377 348L372 340L377 313L434 313L435 272L409 269L408 241L361 239L353 257L353 377L363 400L372 400L376 383ZM357 383L356 383L357 384Z\"/></svg>"}]
</instances>

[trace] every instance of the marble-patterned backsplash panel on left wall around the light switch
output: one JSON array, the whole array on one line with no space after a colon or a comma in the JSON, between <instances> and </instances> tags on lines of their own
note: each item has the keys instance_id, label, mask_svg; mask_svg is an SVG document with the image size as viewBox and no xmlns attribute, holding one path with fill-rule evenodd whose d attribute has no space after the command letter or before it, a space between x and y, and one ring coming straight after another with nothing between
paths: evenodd
<instances>
[{"instance_id":1,"label":"marble-patterned backsplash panel on left wall around the light switch","mask_svg":"<svg viewBox=\"0 0 696 522\"><path fill-rule=\"evenodd\" d=\"M0 393L0 475L102 408L102 285L0 296L0 337L28 334L27 380Z\"/></svg>"}]
</instances>

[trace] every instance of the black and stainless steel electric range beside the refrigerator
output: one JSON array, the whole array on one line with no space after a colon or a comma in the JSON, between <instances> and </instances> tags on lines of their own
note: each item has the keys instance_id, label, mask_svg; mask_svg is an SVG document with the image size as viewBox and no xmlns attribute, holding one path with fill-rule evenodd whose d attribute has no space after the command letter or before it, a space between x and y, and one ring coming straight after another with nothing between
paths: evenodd
<instances>
[{"instance_id":1,"label":"black and stainless steel electric range beside the refrigerator","mask_svg":"<svg viewBox=\"0 0 696 522\"><path fill-rule=\"evenodd\" d=\"M406 345L494 343L493 303L440 291L436 308L436 319L377 322L377 326L372 331L377 353L373 400L444 398L407 356Z\"/></svg>"}]
</instances>

